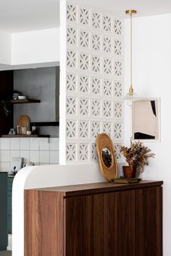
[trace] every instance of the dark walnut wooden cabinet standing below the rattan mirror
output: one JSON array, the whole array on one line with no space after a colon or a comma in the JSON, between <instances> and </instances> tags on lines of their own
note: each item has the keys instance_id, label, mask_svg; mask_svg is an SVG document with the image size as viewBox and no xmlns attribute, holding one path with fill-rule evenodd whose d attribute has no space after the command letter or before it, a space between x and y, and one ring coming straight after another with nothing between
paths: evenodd
<instances>
[{"instance_id":1,"label":"dark walnut wooden cabinet standing below the rattan mirror","mask_svg":"<svg viewBox=\"0 0 171 256\"><path fill-rule=\"evenodd\" d=\"M25 190L25 256L162 256L162 181Z\"/></svg>"}]
</instances>

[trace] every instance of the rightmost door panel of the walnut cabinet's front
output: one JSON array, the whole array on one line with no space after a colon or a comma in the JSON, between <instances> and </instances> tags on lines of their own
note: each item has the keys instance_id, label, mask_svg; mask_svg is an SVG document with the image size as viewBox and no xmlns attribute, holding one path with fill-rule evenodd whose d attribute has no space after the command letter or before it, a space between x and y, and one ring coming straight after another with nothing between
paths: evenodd
<instances>
[{"instance_id":1,"label":"rightmost door panel of the walnut cabinet's front","mask_svg":"<svg viewBox=\"0 0 171 256\"><path fill-rule=\"evenodd\" d=\"M136 255L162 255L162 187L135 192Z\"/></svg>"}]
</instances>

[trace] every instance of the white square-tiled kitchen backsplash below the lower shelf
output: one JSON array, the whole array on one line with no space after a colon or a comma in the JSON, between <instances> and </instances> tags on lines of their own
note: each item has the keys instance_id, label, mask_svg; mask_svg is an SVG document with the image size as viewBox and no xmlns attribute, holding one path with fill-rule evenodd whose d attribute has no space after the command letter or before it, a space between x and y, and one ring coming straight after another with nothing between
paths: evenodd
<instances>
[{"instance_id":1,"label":"white square-tiled kitchen backsplash below the lower shelf","mask_svg":"<svg viewBox=\"0 0 171 256\"><path fill-rule=\"evenodd\" d=\"M58 138L1 138L0 170L11 170L12 157L23 157L23 162L34 162L35 165L59 163Z\"/></svg>"}]
</instances>

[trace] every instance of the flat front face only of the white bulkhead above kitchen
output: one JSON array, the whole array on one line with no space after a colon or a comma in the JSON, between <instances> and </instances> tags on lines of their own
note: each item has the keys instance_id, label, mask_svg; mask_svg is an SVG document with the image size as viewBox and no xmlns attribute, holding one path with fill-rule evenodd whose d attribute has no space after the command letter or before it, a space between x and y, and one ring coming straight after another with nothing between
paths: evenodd
<instances>
[{"instance_id":1,"label":"flat front face only of the white bulkhead above kitchen","mask_svg":"<svg viewBox=\"0 0 171 256\"><path fill-rule=\"evenodd\" d=\"M59 28L12 34L12 65L59 61Z\"/></svg>"}]
</instances>

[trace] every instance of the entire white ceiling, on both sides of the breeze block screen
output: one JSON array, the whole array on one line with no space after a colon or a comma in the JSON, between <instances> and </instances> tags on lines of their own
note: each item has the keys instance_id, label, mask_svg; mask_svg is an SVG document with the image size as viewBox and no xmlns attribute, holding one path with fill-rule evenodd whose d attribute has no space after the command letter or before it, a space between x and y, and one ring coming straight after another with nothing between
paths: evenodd
<instances>
[{"instance_id":1,"label":"entire white ceiling, on both sides of the breeze block screen","mask_svg":"<svg viewBox=\"0 0 171 256\"><path fill-rule=\"evenodd\" d=\"M17 33L59 26L60 0L0 0L0 30ZM71 0L72 1L72 0ZM171 13L170 0L74 0L125 18L125 9L137 9L136 17Z\"/></svg>"}]
</instances>

